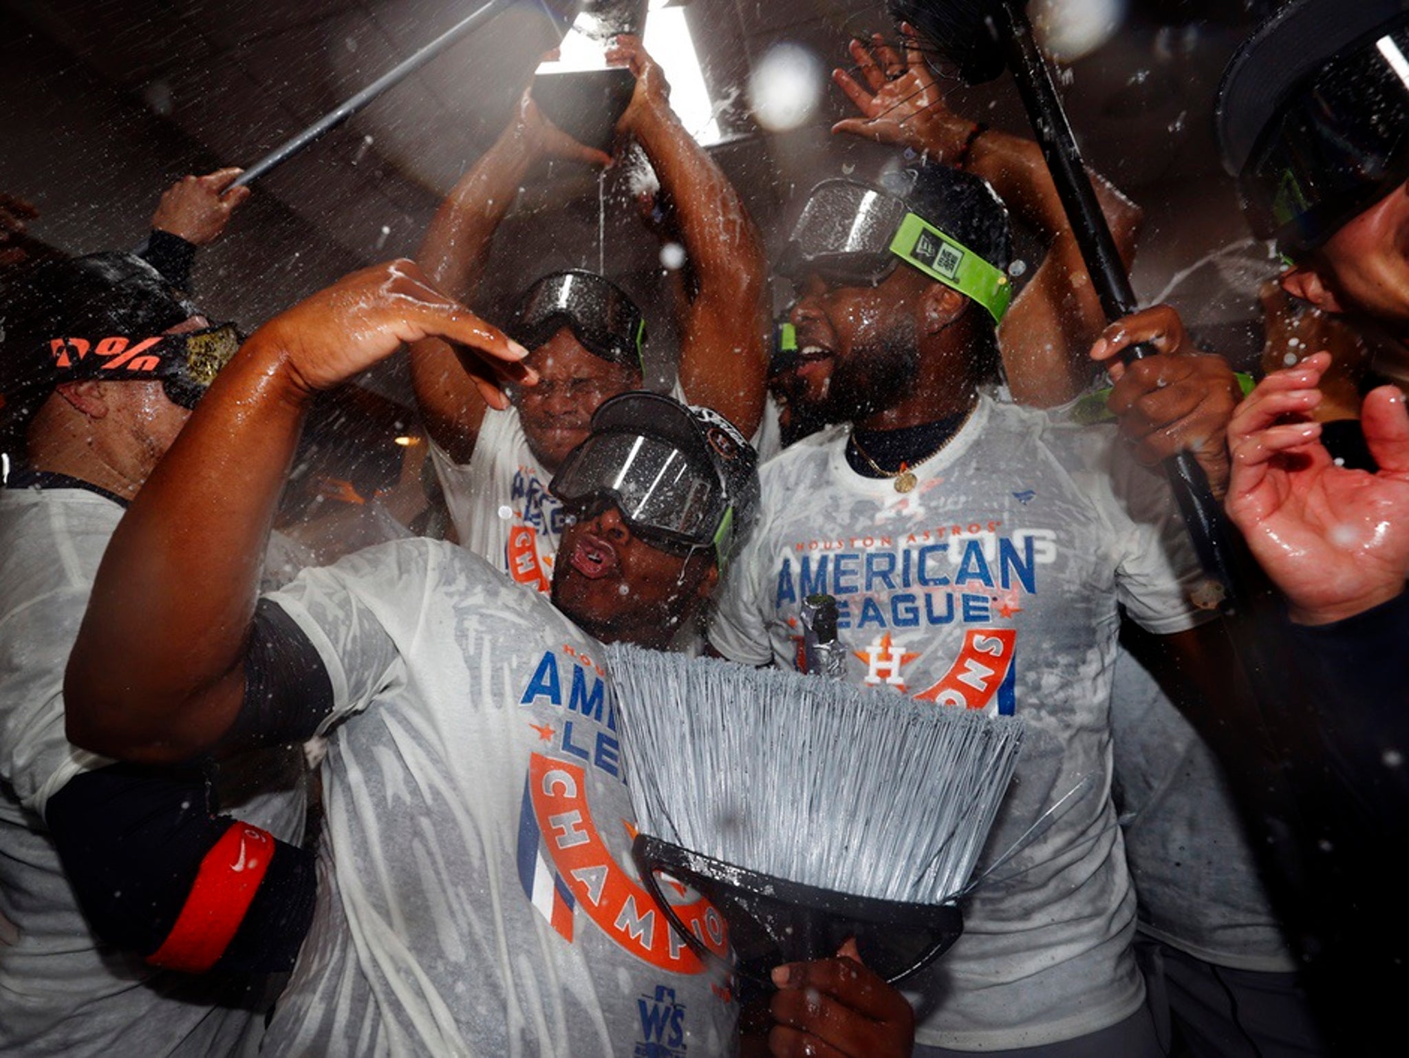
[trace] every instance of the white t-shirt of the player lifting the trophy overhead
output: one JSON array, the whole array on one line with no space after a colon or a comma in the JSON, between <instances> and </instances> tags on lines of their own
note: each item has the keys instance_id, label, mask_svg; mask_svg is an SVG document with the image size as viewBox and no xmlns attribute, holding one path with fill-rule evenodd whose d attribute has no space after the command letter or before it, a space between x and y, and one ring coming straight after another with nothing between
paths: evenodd
<instances>
[{"instance_id":1,"label":"white t-shirt of the player lifting the trophy overhead","mask_svg":"<svg viewBox=\"0 0 1409 1058\"><path fill-rule=\"evenodd\" d=\"M671 396L685 402L679 382ZM769 401L772 405L772 401ZM754 436L759 461L778 451L778 413ZM461 546L519 584L552 585L552 561L562 532L562 505L548 491L552 474L528 449L519 409L486 409L469 463L455 463L431 442L431 461Z\"/></svg>"}]
</instances>

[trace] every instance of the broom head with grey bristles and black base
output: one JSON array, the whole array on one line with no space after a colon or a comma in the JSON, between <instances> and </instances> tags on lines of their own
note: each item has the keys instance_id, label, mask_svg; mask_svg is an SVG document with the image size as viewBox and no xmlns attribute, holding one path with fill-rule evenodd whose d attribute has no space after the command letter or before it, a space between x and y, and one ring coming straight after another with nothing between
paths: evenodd
<instances>
[{"instance_id":1,"label":"broom head with grey bristles and black base","mask_svg":"<svg viewBox=\"0 0 1409 1058\"><path fill-rule=\"evenodd\" d=\"M961 934L958 897L1007 791L1023 725L837 680L610 647L633 858L672 927L671 883L728 924L730 969L855 938L895 983Z\"/></svg>"}]
</instances>

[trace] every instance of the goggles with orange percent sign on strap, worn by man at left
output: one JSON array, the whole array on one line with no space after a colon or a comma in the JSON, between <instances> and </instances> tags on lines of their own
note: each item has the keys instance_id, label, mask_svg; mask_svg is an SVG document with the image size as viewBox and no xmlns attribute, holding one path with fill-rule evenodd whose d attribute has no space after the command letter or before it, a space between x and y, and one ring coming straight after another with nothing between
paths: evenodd
<instances>
[{"instance_id":1,"label":"goggles with orange percent sign on strap, worn by man at left","mask_svg":"<svg viewBox=\"0 0 1409 1058\"><path fill-rule=\"evenodd\" d=\"M234 323L185 334L69 336L49 340L58 379L131 382L161 379L173 403L194 408L220 370L240 348Z\"/></svg>"}]
</instances>

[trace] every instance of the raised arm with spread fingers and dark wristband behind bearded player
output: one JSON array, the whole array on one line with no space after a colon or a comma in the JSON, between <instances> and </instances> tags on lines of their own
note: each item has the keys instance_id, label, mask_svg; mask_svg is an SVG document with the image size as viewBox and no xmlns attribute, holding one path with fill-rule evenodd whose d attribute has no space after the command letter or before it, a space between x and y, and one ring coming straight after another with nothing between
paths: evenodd
<instances>
[{"instance_id":1,"label":"raised arm with spread fingers and dark wristband behind bearded player","mask_svg":"<svg viewBox=\"0 0 1409 1058\"><path fill-rule=\"evenodd\" d=\"M903 56L879 34L871 45L852 41L859 80L841 69L833 72L833 79L861 117L838 121L833 131L907 147L982 176L1013 213L1048 240L1047 255L999 327L999 344L1017 402L1037 408L1064 403L1091 382L1092 365L1084 354L1106 317L1057 186L1034 141L985 128L945 106L921 47L909 27ZM1129 265L1140 209L1099 174L1091 178Z\"/></svg>"}]
</instances>

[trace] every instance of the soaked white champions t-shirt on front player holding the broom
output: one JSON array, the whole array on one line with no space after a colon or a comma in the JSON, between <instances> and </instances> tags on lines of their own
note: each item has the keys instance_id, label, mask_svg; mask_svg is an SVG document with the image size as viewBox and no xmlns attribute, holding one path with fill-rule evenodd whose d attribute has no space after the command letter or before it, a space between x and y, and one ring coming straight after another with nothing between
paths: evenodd
<instances>
[{"instance_id":1,"label":"soaked white champions t-shirt on front player holding the broom","mask_svg":"<svg viewBox=\"0 0 1409 1058\"><path fill-rule=\"evenodd\" d=\"M731 1051L733 1004L631 868L595 640L437 540L358 552L269 598L317 647L335 705L317 913L266 1052ZM720 935L713 908L685 903Z\"/></svg>"}]
</instances>

